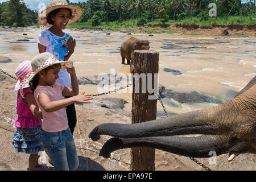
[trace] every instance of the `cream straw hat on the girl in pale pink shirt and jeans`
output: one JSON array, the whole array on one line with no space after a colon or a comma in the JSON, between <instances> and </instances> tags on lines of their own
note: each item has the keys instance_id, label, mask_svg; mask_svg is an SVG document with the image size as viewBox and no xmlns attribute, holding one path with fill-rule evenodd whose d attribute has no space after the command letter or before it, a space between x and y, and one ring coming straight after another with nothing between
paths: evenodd
<instances>
[{"instance_id":1,"label":"cream straw hat on the girl in pale pink shirt and jeans","mask_svg":"<svg viewBox=\"0 0 256 182\"><path fill-rule=\"evenodd\" d=\"M24 98L22 89L24 84L30 82L36 74L42 71L44 68L47 68L53 64L60 64L60 70L65 68L72 68L72 61L59 61L49 52L43 52L35 56L31 61L32 72L28 73L26 77L23 78L20 84L20 95Z\"/></svg>"}]
</instances>

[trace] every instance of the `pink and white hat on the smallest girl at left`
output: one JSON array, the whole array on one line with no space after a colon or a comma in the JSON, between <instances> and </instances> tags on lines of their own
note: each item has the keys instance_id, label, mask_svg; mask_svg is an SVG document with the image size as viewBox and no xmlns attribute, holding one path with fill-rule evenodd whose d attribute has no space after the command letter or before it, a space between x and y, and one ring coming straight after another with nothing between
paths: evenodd
<instances>
[{"instance_id":1,"label":"pink and white hat on the smallest girl at left","mask_svg":"<svg viewBox=\"0 0 256 182\"><path fill-rule=\"evenodd\" d=\"M15 85L14 91L19 90L20 82L22 82L23 78L26 77L27 74L30 72L32 72L30 60L23 61L22 63L20 63L18 65L18 67L15 69L15 75L16 75L16 77L18 77L19 80L17 81L17 83ZM30 87L30 85L28 83L23 85L23 88L28 88L28 87Z\"/></svg>"}]
</instances>

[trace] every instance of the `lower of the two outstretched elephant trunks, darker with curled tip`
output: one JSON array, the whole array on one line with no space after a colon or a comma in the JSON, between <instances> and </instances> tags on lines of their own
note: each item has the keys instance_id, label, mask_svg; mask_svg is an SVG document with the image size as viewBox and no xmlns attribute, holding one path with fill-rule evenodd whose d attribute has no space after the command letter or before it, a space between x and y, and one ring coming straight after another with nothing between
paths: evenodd
<instances>
[{"instance_id":1,"label":"lower of the two outstretched elephant trunks, darker with curled tip","mask_svg":"<svg viewBox=\"0 0 256 182\"><path fill-rule=\"evenodd\" d=\"M148 137L148 138L112 138L101 148L100 155L109 158L111 152L122 148L151 147L177 155L193 158L209 158L230 152L233 146L230 137L203 135L200 137ZM235 147L233 147L234 149Z\"/></svg>"}]
</instances>

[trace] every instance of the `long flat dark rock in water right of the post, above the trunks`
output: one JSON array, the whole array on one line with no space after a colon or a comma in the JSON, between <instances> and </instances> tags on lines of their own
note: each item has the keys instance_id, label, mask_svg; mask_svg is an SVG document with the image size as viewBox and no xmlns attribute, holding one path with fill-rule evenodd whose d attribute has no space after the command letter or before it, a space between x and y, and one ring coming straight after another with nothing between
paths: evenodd
<instances>
[{"instance_id":1,"label":"long flat dark rock in water right of the post, above the trunks","mask_svg":"<svg viewBox=\"0 0 256 182\"><path fill-rule=\"evenodd\" d=\"M161 94L163 97L167 98L172 98L173 100L180 102L181 104L184 103L216 103L216 104L221 104L222 101L220 100L213 100L212 98L208 96L204 96L203 94L200 94L199 92L192 91L188 93L181 93L181 92L176 92L172 90L164 90L164 92Z\"/></svg>"}]
</instances>

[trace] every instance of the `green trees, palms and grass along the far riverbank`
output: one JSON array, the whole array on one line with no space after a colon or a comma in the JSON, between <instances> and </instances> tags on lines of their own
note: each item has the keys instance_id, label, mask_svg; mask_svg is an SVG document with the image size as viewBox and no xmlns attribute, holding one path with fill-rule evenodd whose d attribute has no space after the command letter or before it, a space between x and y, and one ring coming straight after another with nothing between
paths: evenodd
<instances>
[{"instance_id":1,"label":"green trees, palms and grass along the far riverbank","mask_svg":"<svg viewBox=\"0 0 256 182\"><path fill-rule=\"evenodd\" d=\"M137 30L140 26L168 27L171 24L256 24L255 0L88 0L72 3L84 10L82 17L69 28ZM216 4L217 17L209 17L209 3ZM23 1L0 3L0 25L24 27L38 25L38 11ZM165 30L170 31L171 30Z\"/></svg>"}]
</instances>

